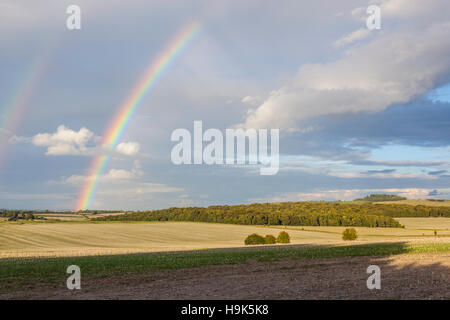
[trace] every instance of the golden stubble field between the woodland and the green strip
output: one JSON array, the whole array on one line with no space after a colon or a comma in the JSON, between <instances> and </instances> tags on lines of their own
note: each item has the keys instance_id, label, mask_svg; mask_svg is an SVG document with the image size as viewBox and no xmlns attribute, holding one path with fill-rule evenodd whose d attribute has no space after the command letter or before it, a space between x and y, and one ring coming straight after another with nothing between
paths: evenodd
<instances>
[{"instance_id":1,"label":"golden stubble field between the woodland and the green strip","mask_svg":"<svg viewBox=\"0 0 450 320\"><path fill-rule=\"evenodd\" d=\"M450 218L395 218L405 228L355 227L358 240L450 242ZM250 226L200 222L1 222L0 258L62 257L244 246L252 233L288 231L292 244L349 244L345 227ZM435 235L435 231L437 235Z\"/></svg>"}]
</instances>

